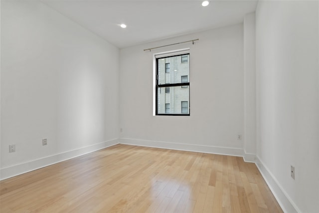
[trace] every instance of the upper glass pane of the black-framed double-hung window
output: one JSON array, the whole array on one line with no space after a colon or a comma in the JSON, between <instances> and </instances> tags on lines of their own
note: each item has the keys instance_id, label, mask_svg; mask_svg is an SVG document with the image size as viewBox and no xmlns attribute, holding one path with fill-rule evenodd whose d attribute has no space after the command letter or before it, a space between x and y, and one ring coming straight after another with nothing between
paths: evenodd
<instances>
[{"instance_id":1,"label":"upper glass pane of the black-framed double-hung window","mask_svg":"<svg viewBox=\"0 0 319 213\"><path fill-rule=\"evenodd\" d=\"M177 56L170 56L165 58L158 58L157 59L157 68L158 68L158 84L174 84L174 83L181 83L181 76L189 76L189 63L182 63L181 57L188 56L187 55L177 55Z\"/></svg>"}]
</instances>

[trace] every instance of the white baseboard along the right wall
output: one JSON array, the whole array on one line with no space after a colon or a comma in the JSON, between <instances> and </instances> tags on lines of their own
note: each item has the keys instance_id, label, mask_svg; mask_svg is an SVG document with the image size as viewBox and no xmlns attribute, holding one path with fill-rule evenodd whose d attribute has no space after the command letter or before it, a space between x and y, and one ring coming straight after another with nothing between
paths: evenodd
<instances>
[{"instance_id":1,"label":"white baseboard along the right wall","mask_svg":"<svg viewBox=\"0 0 319 213\"><path fill-rule=\"evenodd\" d=\"M301 213L296 204L258 156L256 156L255 164L283 211L285 213Z\"/></svg>"}]
</instances>

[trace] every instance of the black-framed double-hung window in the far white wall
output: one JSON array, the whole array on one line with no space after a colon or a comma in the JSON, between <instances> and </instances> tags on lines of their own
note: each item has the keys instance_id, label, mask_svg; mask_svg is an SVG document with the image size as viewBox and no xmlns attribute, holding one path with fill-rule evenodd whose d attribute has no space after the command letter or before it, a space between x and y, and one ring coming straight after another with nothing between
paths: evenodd
<instances>
[{"instance_id":1,"label":"black-framed double-hung window in the far white wall","mask_svg":"<svg viewBox=\"0 0 319 213\"><path fill-rule=\"evenodd\" d=\"M158 53L154 57L154 115L189 115L189 49Z\"/></svg>"}]
</instances>

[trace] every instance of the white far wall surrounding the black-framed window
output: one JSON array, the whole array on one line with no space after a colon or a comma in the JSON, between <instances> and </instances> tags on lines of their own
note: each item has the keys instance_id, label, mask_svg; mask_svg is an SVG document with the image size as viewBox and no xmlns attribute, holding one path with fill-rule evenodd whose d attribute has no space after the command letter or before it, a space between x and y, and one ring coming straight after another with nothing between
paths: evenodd
<instances>
[{"instance_id":1,"label":"white far wall surrounding the black-framed window","mask_svg":"<svg viewBox=\"0 0 319 213\"><path fill-rule=\"evenodd\" d=\"M153 54L188 47L190 116L153 116ZM121 143L242 155L242 24L121 49L120 79Z\"/></svg>"}]
</instances>

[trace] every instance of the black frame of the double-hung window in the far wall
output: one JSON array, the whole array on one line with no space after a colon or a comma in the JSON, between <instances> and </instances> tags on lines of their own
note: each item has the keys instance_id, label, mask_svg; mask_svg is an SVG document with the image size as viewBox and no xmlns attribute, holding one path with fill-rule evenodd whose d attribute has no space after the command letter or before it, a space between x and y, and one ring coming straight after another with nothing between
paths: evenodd
<instances>
[{"instance_id":1,"label":"black frame of the double-hung window in the far wall","mask_svg":"<svg viewBox=\"0 0 319 213\"><path fill-rule=\"evenodd\" d=\"M176 54L176 55L170 55L170 56L163 56L163 57L158 57L156 58L156 86L155 86L155 95L156 95L156 99L155 99L155 115L168 115L168 116L190 116L190 89L188 90L188 113L180 113L180 114L173 114L173 113L159 113L159 109L158 109L158 91L159 88L162 87L176 87L176 86L188 86L189 87L189 77L188 77L188 82L184 82L184 83L165 83L165 84L159 84L159 60L163 59L163 58L168 58L168 57L176 57L176 56L182 56L182 55L188 55L188 58L190 57L190 54ZM187 58L187 62L188 62L188 58ZM170 66L170 65L169 65ZM170 67L169 67L170 68ZM190 72L190 70L189 70ZM165 73L166 72L166 63L165 63ZM188 73L187 76L189 76L190 73ZM166 109L166 108L165 108ZM166 111L166 110L165 110Z\"/></svg>"}]
</instances>

